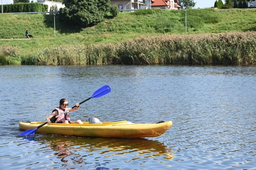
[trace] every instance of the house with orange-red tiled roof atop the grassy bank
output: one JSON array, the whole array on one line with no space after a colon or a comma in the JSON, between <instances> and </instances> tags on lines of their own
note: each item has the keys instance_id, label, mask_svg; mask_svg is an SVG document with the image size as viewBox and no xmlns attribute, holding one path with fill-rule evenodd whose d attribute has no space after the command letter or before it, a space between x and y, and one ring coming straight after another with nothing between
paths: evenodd
<instances>
[{"instance_id":1,"label":"house with orange-red tiled roof atop the grassy bank","mask_svg":"<svg viewBox=\"0 0 256 170\"><path fill-rule=\"evenodd\" d=\"M154 8L161 8L161 9L169 9L169 10L177 10L179 8L181 8L181 6L179 6L178 0L151 0L151 9Z\"/></svg>"}]
</instances>

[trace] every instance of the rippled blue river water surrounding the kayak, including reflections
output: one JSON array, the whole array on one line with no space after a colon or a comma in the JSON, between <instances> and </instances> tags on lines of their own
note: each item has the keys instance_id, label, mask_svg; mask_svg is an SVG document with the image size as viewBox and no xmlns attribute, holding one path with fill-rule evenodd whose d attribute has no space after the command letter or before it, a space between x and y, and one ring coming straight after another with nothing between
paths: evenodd
<instances>
[{"instance_id":1,"label":"rippled blue river water surrounding the kayak, including reflections","mask_svg":"<svg viewBox=\"0 0 256 170\"><path fill-rule=\"evenodd\" d=\"M155 138L18 136L108 84L71 120L173 125ZM256 67L0 66L0 169L256 169Z\"/></svg>"}]
</instances>

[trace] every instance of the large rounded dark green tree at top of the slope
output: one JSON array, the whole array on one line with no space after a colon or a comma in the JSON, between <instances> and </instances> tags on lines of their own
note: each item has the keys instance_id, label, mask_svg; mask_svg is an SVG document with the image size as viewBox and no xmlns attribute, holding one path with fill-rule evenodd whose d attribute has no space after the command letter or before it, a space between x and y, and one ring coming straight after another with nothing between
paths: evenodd
<instances>
[{"instance_id":1,"label":"large rounded dark green tree at top of the slope","mask_svg":"<svg viewBox=\"0 0 256 170\"><path fill-rule=\"evenodd\" d=\"M110 0L64 0L60 9L60 20L72 25L97 24L109 12Z\"/></svg>"}]
</instances>

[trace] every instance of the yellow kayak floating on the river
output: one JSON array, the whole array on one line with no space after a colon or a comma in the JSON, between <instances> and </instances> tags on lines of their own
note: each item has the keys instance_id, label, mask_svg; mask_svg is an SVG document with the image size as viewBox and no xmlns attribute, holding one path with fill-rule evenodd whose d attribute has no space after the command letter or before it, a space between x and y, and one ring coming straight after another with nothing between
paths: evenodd
<instances>
[{"instance_id":1,"label":"yellow kayak floating on the river","mask_svg":"<svg viewBox=\"0 0 256 170\"><path fill-rule=\"evenodd\" d=\"M19 128L28 130L38 127L45 122L19 122ZM156 124L130 123L126 120L119 122L102 122L102 124L59 124L48 123L36 130L36 133L61 135L93 136L93 137L156 137L162 135L172 125L172 121Z\"/></svg>"}]
</instances>

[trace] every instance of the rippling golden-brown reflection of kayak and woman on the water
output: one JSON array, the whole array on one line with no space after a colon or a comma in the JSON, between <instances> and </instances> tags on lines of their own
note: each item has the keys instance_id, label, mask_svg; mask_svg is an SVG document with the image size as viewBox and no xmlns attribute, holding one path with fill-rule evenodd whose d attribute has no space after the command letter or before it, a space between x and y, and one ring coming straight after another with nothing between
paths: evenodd
<instances>
[{"instance_id":1,"label":"rippling golden-brown reflection of kayak and woman on the water","mask_svg":"<svg viewBox=\"0 0 256 170\"><path fill-rule=\"evenodd\" d=\"M68 163L63 166L81 163L90 164L90 166L98 163L97 166L100 166L106 160L131 162L142 159L143 163L148 158L164 162L164 160L173 158L172 151L167 146L145 138L113 139L44 135L37 136L37 140L57 151L52 155L57 156L56 158L62 162Z\"/></svg>"}]
</instances>

